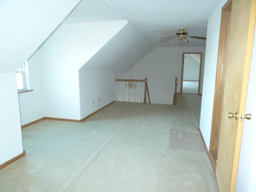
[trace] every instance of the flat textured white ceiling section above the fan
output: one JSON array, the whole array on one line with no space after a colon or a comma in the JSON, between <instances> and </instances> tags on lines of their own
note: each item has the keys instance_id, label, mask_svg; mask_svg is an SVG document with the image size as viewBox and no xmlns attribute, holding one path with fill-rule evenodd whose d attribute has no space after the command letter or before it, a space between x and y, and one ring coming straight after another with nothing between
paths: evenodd
<instances>
[{"instance_id":1,"label":"flat textured white ceiling section above the fan","mask_svg":"<svg viewBox=\"0 0 256 192\"><path fill-rule=\"evenodd\" d=\"M82 0L66 22L128 20L155 46L178 46L174 36L179 28L189 35L206 37L207 20L219 0ZM186 46L202 46L205 40L189 39Z\"/></svg>"}]
</instances>

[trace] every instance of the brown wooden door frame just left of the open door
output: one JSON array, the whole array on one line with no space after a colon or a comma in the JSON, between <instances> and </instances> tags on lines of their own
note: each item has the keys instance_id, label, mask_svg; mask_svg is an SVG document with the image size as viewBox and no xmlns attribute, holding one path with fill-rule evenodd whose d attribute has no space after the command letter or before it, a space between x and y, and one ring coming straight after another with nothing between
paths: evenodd
<instances>
[{"instance_id":1,"label":"brown wooden door frame just left of the open door","mask_svg":"<svg viewBox=\"0 0 256 192\"><path fill-rule=\"evenodd\" d=\"M226 59L228 54L228 37L230 27L232 0L228 0L222 7L220 22L220 37L218 46L217 70L214 89L214 102L212 111L212 126L210 136L209 158L212 169L216 171L216 160L218 157L218 145L220 137L220 122L222 116L223 90L226 74Z\"/></svg>"}]
</instances>

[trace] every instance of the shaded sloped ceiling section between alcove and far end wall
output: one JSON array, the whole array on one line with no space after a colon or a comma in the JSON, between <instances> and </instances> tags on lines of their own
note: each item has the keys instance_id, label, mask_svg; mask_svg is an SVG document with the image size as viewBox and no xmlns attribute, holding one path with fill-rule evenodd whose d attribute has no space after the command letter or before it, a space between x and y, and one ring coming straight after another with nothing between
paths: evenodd
<instances>
[{"instance_id":1,"label":"shaded sloped ceiling section between alcove and far end wall","mask_svg":"<svg viewBox=\"0 0 256 192\"><path fill-rule=\"evenodd\" d=\"M100 51L83 67L111 66L120 78L149 54L155 46L131 23L126 24Z\"/></svg>"}]
</instances>

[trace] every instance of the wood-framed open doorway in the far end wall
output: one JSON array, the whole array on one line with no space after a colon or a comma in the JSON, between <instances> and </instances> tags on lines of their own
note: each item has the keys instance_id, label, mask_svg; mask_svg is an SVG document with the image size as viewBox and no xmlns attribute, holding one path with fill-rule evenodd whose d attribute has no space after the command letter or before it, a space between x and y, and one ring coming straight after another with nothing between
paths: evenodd
<instances>
[{"instance_id":1,"label":"wood-framed open doorway in the far end wall","mask_svg":"<svg viewBox=\"0 0 256 192\"><path fill-rule=\"evenodd\" d=\"M182 53L180 93L199 94L202 53Z\"/></svg>"}]
</instances>

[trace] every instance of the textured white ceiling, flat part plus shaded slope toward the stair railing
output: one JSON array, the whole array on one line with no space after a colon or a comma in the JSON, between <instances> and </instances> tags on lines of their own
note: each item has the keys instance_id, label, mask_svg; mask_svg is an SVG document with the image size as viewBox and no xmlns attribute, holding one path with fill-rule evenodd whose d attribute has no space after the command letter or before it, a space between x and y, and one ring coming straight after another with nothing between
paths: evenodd
<instances>
[{"instance_id":1,"label":"textured white ceiling, flat part plus shaded slope toward the stair railing","mask_svg":"<svg viewBox=\"0 0 256 192\"><path fill-rule=\"evenodd\" d=\"M112 66L120 78L156 47L178 46L160 38L179 28L206 37L207 20L219 0L82 0L67 23L128 20L128 24L97 52L84 67ZM102 31L104 33L104 31ZM206 41L189 39L186 46L205 48Z\"/></svg>"}]
</instances>

